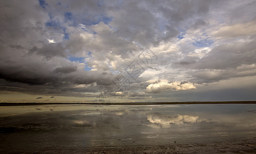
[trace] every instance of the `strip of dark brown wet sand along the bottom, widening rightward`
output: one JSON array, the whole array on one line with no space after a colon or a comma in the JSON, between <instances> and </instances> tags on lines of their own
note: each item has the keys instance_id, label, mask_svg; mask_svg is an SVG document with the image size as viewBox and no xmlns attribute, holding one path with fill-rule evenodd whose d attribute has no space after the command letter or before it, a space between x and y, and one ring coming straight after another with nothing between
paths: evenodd
<instances>
[{"instance_id":1,"label":"strip of dark brown wet sand along the bottom, widening rightward","mask_svg":"<svg viewBox=\"0 0 256 154\"><path fill-rule=\"evenodd\" d=\"M5 148L1 153L255 153L255 146L254 139L151 146Z\"/></svg>"}]
</instances>

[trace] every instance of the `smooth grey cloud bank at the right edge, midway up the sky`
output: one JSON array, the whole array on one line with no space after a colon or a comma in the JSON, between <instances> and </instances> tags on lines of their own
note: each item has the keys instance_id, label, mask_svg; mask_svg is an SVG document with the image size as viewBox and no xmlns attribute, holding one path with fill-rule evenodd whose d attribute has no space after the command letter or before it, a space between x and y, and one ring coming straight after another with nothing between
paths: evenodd
<instances>
[{"instance_id":1,"label":"smooth grey cloud bank at the right edge, midway up the sky","mask_svg":"<svg viewBox=\"0 0 256 154\"><path fill-rule=\"evenodd\" d=\"M228 69L256 62L256 42L222 44L200 59L195 68Z\"/></svg>"}]
</instances>

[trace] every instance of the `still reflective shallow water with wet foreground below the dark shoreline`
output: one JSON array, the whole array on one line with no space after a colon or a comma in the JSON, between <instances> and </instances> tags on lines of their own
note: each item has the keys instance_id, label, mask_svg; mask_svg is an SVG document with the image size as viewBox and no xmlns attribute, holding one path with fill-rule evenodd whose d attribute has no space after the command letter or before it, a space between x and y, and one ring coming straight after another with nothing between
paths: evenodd
<instances>
[{"instance_id":1,"label":"still reflective shallow water with wet foreground below the dark shoreline","mask_svg":"<svg viewBox=\"0 0 256 154\"><path fill-rule=\"evenodd\" d=\"M256 151L256 104L1 106L0 113L0 152Z\"/></svg>"}]
</instances>

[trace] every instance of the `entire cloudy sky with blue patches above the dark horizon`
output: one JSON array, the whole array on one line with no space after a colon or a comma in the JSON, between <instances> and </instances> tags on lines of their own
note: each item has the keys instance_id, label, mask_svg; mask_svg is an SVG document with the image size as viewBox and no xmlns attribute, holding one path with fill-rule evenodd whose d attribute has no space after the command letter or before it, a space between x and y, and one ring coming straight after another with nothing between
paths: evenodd
<instances>
[{"instance_id":1,"label":"entire cloudy sky with blue patches above the dark horizon","mask_svg":"<svg viewBox=\"0 0 256 154\"><path fill-rule=\"evenodd\" d=\"M256 100L256 1L0 7L0 102Z\"/></svg>"}]
</instances>

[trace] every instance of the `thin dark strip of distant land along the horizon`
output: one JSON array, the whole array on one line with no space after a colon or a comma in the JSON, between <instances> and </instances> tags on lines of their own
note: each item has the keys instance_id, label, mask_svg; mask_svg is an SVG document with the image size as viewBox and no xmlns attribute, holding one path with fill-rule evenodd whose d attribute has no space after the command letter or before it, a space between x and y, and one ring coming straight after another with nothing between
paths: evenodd
<instances>
[{"instance_id":1,"label":"thin dark strip of distant land along the horizon","mask_svg":"<svg viewBox=\"0 0 256 154\"><path fill-rule=\"evenodd\" d=\"M256 104L256 101L222 101L222 102L147 102L147 103L0 103L0 106L19 105L163 105L163 104Z\"/></svg>"}]
</instances>

